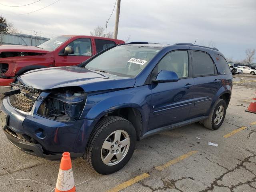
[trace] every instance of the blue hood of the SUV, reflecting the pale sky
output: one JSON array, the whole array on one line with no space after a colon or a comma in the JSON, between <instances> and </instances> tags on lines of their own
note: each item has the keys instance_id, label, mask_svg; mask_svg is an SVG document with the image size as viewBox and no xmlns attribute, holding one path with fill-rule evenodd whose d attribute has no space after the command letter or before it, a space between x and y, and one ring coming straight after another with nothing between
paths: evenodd
<instances>
[{"instance_id":1,"label":"blue hood of the SUV, reflecting the pale sky","mask_svg":"<svg viewBox=\"0 0 256 192\"><path fill-rule=\"evenodd\" d=\"M78 66L64 66L32 70L21 75L18 80L25 85L40 90L80 86L86 92L133 87L135 78L113 76L94 72Z\"/></svg>"}]
</instances>

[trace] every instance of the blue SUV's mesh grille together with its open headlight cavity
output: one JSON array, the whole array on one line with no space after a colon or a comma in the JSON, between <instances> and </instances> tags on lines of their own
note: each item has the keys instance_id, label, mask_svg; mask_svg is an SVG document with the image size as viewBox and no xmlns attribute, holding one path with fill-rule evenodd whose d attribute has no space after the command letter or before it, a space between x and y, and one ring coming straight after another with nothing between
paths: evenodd
<instances>
[{"instance_id":1,"label":"blue SUV's mesh grille together with its open headlight cavity","mask_svg":"<svg viewBox=\"0 0 256 192\"><path fill-rule=\"evenodd\" d=\"M11 85L12 89L6 96L14 108L30 112L34 103L39 101L42 104L36 109L36 114L60 122L79 120L86 103L86 93L80 87L39 90L24 86L20 82Z\"/></svg>"}]
</instances>

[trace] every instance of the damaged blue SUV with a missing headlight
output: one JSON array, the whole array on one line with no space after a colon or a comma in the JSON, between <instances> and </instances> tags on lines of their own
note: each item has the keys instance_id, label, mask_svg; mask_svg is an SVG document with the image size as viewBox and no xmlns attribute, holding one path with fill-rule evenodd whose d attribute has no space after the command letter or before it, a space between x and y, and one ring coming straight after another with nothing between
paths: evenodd
<instances>
[{"instance_id":1,"label":"damaged blue SUV with a missing headlight","mask_svg":"<svg viewBox=\"0 0 256 192\"><path fill-rule=\"evenodd\" d=\"M29 71L11 85L0 125L12 144L50 160L67 151L110 174L129 161L136 140L194 122L218 129L232 74L216 48L123 44L78 66Z\"/></svg>"}]
</instances>

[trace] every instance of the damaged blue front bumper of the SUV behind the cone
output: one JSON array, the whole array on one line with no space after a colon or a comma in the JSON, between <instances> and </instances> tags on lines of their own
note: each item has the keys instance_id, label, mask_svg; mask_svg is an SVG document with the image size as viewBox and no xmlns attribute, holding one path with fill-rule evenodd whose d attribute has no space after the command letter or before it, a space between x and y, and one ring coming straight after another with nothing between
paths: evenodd
<instances>
[{"instance_id":1,"label":"damaged blue front bumper of the SUV behind the cone","mask_svg":"<svg viewBox=\"0 0 256 192\"><path fill-rule=\"evenodd\" d=\"M3 99L0 110L8 116L3 129L8 141L27 154L49 160L60 159L63 152L70 152L73 158L83 156L97 120L50 120L36 114L40 104L35 102L26 113L12 107L8 98Z\"/></svg>"}]
</instances>

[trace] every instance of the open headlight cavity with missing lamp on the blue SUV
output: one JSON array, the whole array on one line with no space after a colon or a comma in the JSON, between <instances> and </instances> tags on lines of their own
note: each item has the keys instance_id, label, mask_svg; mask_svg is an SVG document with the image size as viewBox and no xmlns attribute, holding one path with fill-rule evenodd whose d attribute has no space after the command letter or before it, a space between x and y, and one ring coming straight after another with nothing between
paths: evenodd
<instances>
[{"instance_id":1,"label":"open headlight cavity with missing lamp on the blue SUV","mask_svg":"<svg viewBox=\"0 0 256 192\"><path fill-rule=\"evenodd\" d=\"M40 105L37 114L61 122L79 120L86 102L83 91L52 92Z\"/></svg>"}]
</instances>

